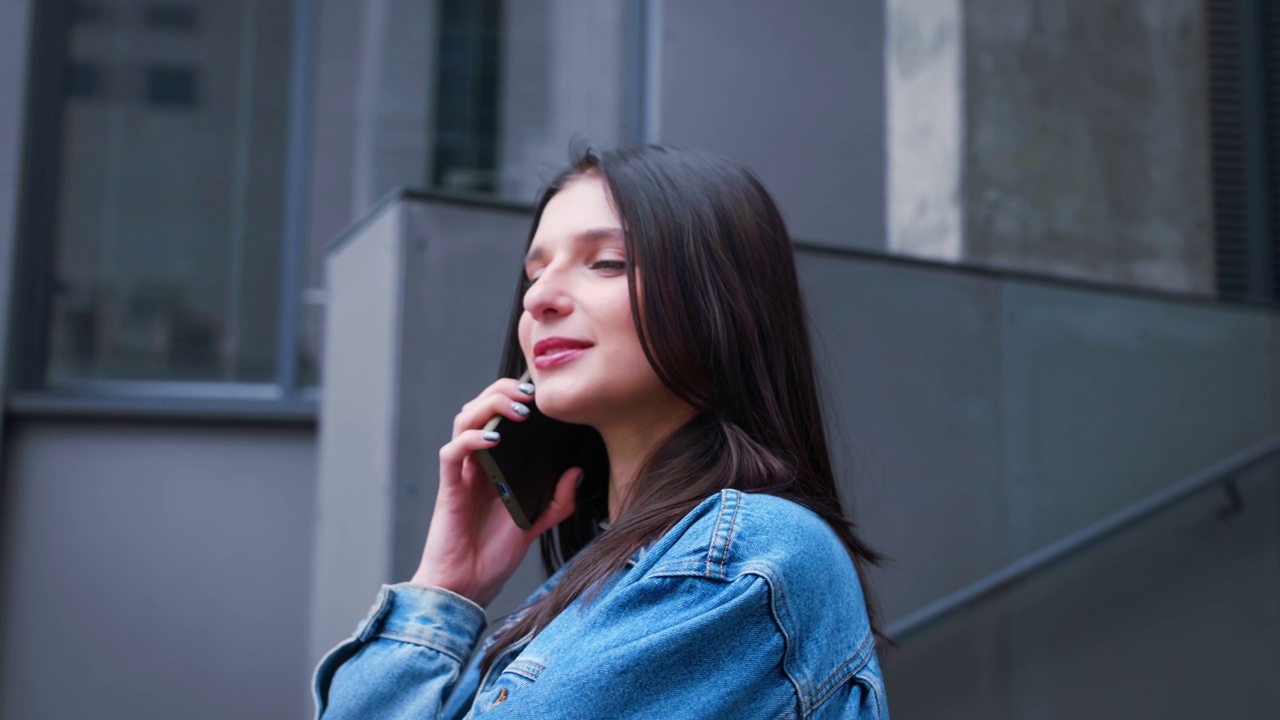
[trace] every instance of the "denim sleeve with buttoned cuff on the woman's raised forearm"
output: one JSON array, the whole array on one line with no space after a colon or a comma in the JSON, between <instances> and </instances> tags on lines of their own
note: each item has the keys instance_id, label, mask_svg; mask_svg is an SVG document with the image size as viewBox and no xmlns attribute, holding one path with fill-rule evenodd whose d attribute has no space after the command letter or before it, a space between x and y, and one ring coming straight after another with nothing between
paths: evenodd
<instances>
[{"instance_id":1,"label":"denim sleeve with buttoned cuff on the woman's raised forearm","mask_svg":"<svg viewBox=\"0 0 1280 720\"><path fill-rule=\"evenodd\" d=\"M439 588L383 585L356 634L316 666L316 717L443 717L484 611Z\"/></svg>"}]
</instances>

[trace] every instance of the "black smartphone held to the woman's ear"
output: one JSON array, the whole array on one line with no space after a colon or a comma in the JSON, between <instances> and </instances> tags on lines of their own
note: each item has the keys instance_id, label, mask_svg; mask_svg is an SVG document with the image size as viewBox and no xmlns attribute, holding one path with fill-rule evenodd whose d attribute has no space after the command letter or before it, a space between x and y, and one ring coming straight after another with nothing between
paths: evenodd
<instances>
[{"instance_id":1,"label":"black smartphone held to the woman's ear","mask_svg":"<svg viewBox=\"0 0 1280 720\"><path fill-rule=\"evenodd\" d=\"M529 382L529 373L520 382ZM529 529L556 493L556 483L564 470L585 466L590 441L598 438L594 428L548 418L538 409L536 397L522 421L494 416L484 429L498 430L502 439L476 457L493 480L503 505L516 525Z\"/></svg>"}]
</instances>

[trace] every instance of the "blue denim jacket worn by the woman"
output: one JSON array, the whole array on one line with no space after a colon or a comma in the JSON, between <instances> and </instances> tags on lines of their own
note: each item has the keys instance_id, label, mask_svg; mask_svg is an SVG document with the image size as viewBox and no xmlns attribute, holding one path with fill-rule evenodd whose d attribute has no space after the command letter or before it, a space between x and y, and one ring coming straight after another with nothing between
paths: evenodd
<instances>
[{"instance_id":1,"label":"blue denim jacket worn by the woman","mask_svg":"<svg viewBox=\"0 0 1280 720\"><path fill-rule=\"evenodd\" d=\"M448 591L383 585L317 665L316 717L888 717L849 553L773 496L707 498L480 678L484 624Z\"/></svg>"}]
</instances>

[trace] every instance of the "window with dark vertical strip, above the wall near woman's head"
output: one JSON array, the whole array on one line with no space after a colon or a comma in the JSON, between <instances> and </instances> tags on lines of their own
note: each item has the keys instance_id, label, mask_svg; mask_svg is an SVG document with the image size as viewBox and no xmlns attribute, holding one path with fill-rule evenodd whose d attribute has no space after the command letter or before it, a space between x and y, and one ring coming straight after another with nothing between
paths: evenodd
<instances>
[{"instance_id":1,"label":"window with dark vertical strip, above the wall near woman's head","mask_svg":"<svg viewBox=\"0 0 1280 720\"><path fill-rule=\"evenodd\" d=\"M634 0L389 4L366 206L398 186L531 202L575 138L640 140ZM424 13L424 8L429 9ZM428 38L426 42L422 38ZM364 179L364 178L362 178Z\"/></svg>"}]
</instances>

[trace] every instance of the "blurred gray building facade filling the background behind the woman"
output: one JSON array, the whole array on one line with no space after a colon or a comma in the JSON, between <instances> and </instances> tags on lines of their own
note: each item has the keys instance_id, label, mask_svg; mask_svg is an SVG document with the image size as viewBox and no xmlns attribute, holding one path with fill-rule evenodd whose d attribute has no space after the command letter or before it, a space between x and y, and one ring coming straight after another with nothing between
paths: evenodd
<instances>
[{"instance_id":1,"label":"blurred gray building facade filling the background behind the woman","mask_svg":"<svg viewBox=\"0 0 1280 720\"><path fill-rule=\"evenodd\" d=\"M467 249L518 250L572 143L709 150L780 200L891 626L1274 437L1267 12L3 0L0 717L310 716L319 650L424 537L456 405L412 368L498 333L379 323L466 319ZM457 265L390 266L352 325L339 240ZM1226 635L1213 707L1274 715L1274 473L888 651L892 706L1201 716L1153 688Z\"/></svg>"}]
</instances>

